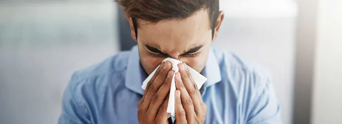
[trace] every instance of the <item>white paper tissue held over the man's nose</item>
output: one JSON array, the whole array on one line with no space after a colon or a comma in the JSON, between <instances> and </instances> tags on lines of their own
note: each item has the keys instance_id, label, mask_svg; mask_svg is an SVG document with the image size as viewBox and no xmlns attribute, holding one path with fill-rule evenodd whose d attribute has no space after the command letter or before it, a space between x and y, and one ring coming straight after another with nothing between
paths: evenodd
<instances>
[{"instance_id":1,"label":"white paper tissue held over the man's nose","mask_svg":"<svg viewBox=\"0 0 342 124\"><path fill-rule=\"evenodd\" d=\"M174 70L174 73L178 72L178 63L182 63L178 60L172 59L172 58L167 58L164 59L163 62L171 62L172 63L172 70ZM151 80L153 75L156 73L157 69L159 68L160 65L156 69L153 70L153 72L144 80L143 85L141 86L142 89L146 89L147 83ZM201 88L202 85L204 84L205 81L207 81L207 78L198 73L196 70L192 69L190 66L188 66L188 69L191 73L192 78L194 79L195 83L197 84L198 88ZM174 83L174 76L172 76L172 81L171 81L171 89L170 89L170 98L169 98L169 104L168 104L168 109L167 113L169 113L169 117L175 118L175 113L174 113L174 92L176 91L176 85Z\"/></svg>"}]
</instances>

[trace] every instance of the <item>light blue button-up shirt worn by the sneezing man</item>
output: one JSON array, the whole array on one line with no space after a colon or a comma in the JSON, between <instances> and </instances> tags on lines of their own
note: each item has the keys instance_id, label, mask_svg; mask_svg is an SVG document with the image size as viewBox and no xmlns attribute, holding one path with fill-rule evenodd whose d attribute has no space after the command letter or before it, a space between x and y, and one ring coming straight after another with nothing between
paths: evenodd
<instances>
[{"instance_id":1,"label":"light blue button-up shirt worn by the sneezing man","mask_svg":"<svg viewBox=\"0 0 342 124\"><path fill-rule=\"evenodd\" d=\"M268 72L211 48L200 89L205 124L283 124ZM76 71L64 91L58 124L138 124L147 75L138 49Z\"/></svg>"}]
</instances>

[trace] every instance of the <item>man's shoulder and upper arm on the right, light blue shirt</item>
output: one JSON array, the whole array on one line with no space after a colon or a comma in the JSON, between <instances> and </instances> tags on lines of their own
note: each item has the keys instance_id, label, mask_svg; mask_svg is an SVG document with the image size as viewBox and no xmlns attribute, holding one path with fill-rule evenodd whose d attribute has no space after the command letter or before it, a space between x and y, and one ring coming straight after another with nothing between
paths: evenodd
<instances>
[{"instance_id":1,"label":"man's shoulder and upper arm on the right, light blue shirt","mask_svg":"<svg viewBox=\"0 0 342 124\"><path fill-rule=\"evenodd\" d=\"M272 76L265 67L241 59L232 53L220 54L224 85L242 108L241 118L246 123L282 124L280 107L272 85Z\"/></svg>"}]
</instances>

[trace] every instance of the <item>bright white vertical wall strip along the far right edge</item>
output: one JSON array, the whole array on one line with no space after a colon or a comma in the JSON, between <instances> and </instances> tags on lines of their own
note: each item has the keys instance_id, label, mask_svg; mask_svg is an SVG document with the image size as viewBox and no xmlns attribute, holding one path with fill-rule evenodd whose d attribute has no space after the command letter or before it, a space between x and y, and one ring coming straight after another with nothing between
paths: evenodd
<instances>
[{"instance_id":1,"label":"bright white vertical wall strip along the far right edge","mask_svg":"<svg viewBox=\"0 0 342 124\"><path fill-rule=\"evenodd\" d=\"M342 122L342 1L319 0L312 124Z\"/></svg>"}]
</instances>

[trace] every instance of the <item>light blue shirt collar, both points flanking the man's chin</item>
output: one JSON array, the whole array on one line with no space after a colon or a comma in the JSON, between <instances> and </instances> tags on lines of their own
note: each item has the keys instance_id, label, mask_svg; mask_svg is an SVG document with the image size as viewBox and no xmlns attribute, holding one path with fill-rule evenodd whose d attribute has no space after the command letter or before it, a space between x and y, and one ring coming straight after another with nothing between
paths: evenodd
<instances>
[{"instance_id":1,"label":"light blue shirt collar, both points flanking the man's chin","mask_svg":"<svg viewBox=\"0 0 342 124\"><path fill-rule=\"evenodd\" d=\"M206 83L204 83L205 88L221 81L220 66L214 54L213 48L211 48L209 51L208 60L203 70L203 75L208 78ZM131 49L131 54L127 63L125 86L128 89L143 95L144 90L141 88L141 85L146 78L147 75L144 73L144 70L140 65L138 47L134 46Z\"/></svg>"}]
</instances>

